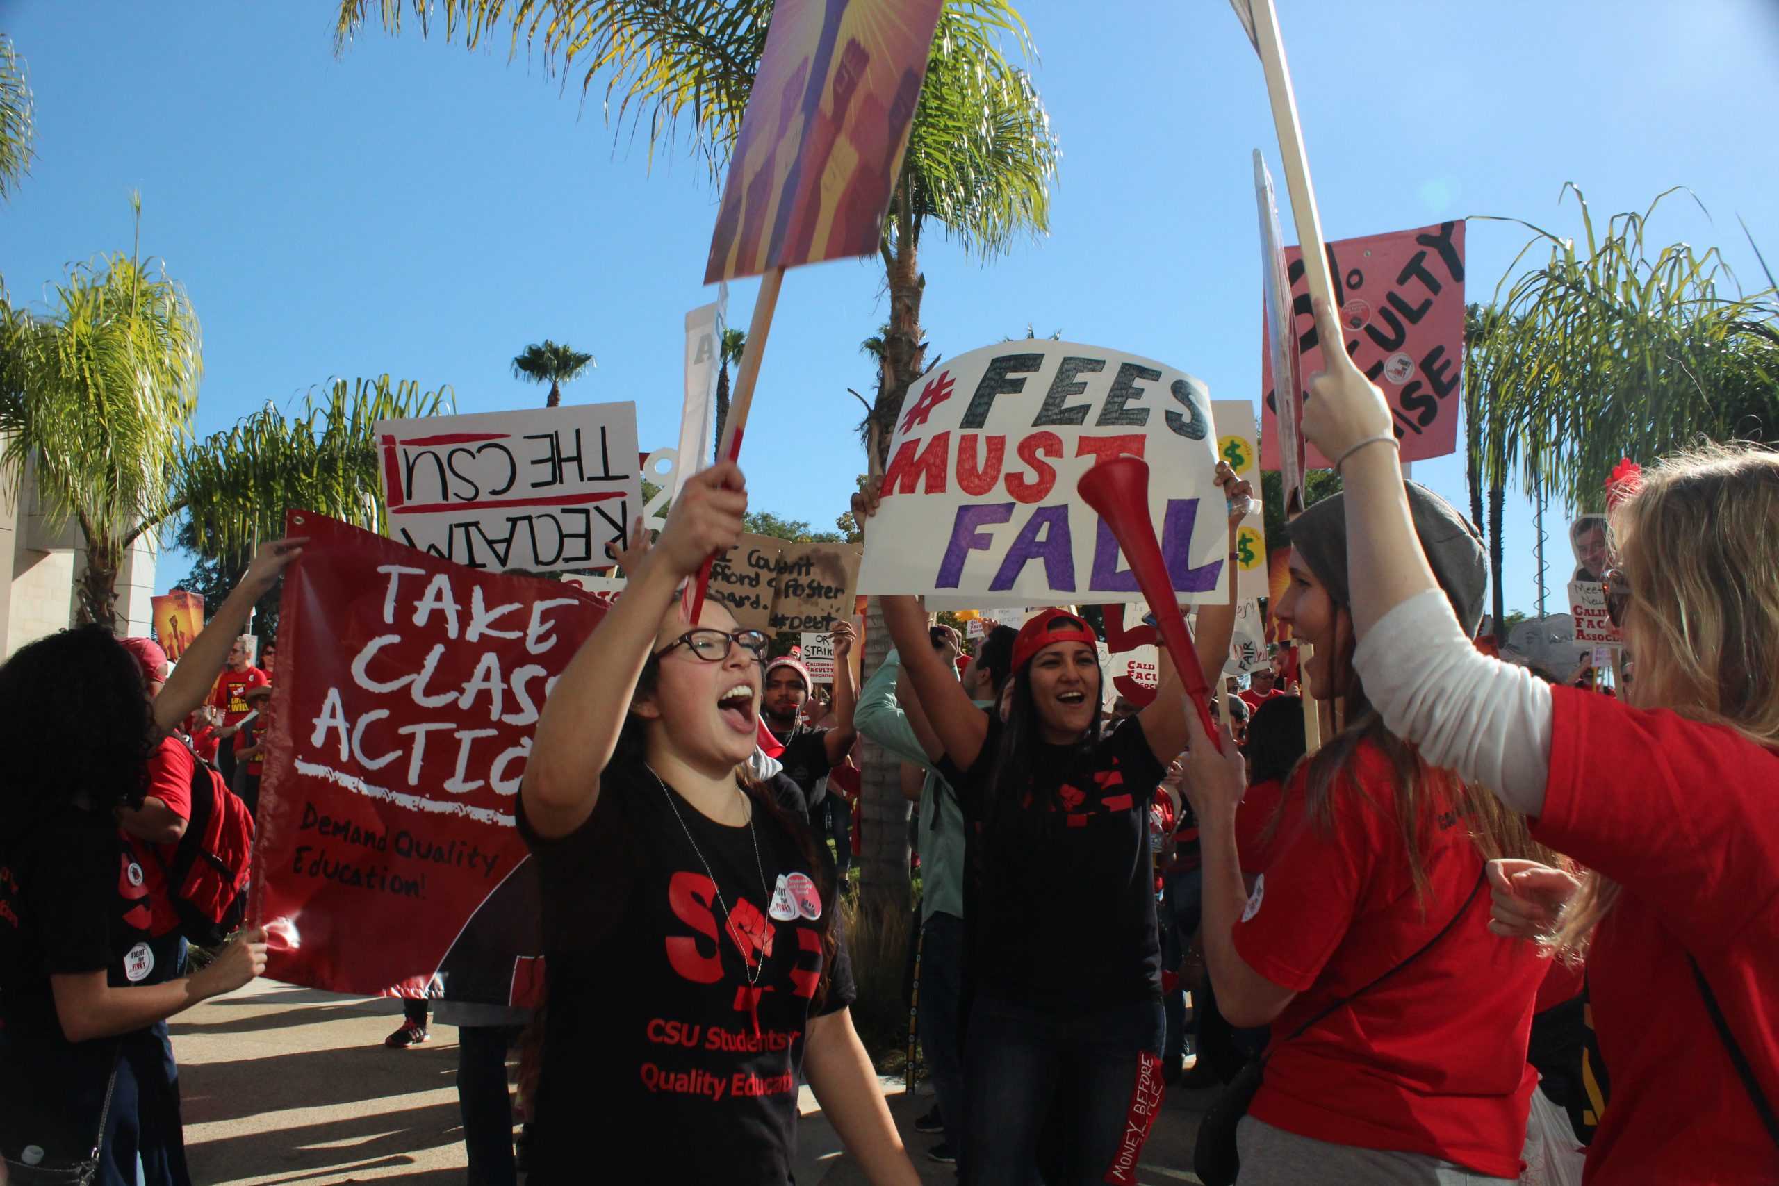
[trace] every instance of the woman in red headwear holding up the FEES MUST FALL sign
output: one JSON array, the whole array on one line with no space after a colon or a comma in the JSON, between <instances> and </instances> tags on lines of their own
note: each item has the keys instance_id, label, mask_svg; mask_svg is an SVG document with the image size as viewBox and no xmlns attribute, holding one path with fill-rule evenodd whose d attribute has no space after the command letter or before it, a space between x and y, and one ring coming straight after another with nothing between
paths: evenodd
<instances>
[{"instance_id":1,"label":"woman in red headwear holding up the FEES MUST FALL sign","mask_svg":"<svg viewBox=\"0 0 1779 1186\"><path fill-rule=\"evenodd\" d=\"M1245 505L1226 466L1219 484ZM856 498L856 519L875 503L875 487ZM1075 613L1046 610L1019 629L1003 720L977 709L927 644L918 599L882 597L882 610L975 827L964 1181L1026 1186L1041 1136L1046 1163L1051 1140L1062 1147L1051 1181L1135 1181L1162 1097L1149 804L1187 736L1167 653L1155 702L1101 738L1098 637ZM1233 608L1199 610L1206 679L1233 628Z\"/></svg>"}]
</instances>

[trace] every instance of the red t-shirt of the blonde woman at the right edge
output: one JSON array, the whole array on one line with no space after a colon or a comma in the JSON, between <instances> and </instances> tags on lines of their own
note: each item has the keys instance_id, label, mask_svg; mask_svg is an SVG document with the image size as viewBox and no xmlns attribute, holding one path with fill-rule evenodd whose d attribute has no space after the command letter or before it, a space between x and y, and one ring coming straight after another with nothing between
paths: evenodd
<instances>
[{"instance_id":1,"label":"red t-shirt of the blonde woman at the right edge","mask_svg":"<svg viewBox=\"0 0 1779 1186\"><path fill-rule=\"evenodd\" d=\"M1779 1106L1779 754L1576 688L1551 699L1533 834L1622 885L1587 957L1612 1097L1583 1181L1779 1182L1686 962Z\"/></svg>"}]
</instances>

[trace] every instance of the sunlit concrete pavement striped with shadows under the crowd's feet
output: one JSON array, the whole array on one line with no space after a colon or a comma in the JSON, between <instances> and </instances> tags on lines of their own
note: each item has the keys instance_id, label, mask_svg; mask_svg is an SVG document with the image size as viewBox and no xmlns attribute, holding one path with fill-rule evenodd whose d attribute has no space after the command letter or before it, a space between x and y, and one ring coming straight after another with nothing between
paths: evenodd
<instances>
[{"instance_id":1,"label":"sunlit concrete pavement striped with shadows under the crowd's feet","mask_svg":"<svg viewBox=\"0 0 1779 1186\"><path fill-rule=\"evenodd\" d=\"M400 1003L349 998L260 980L173 1019L185 1149L203 1184L464 1182L457 1115L457 1030L432 1024L425 1046L382 1046ZM890 1111L922 1181L952 1182L927 1159L938 1136L914 1133L932 1106L900 1078L884 1079ZM1197 1182L1192 1142L1211 1092L1171 1090L1144 1147L1142 1186ZM815 1097L802 1088L797 1182L854 1186L849 1158Z\"/></svg>"}]
</instances>

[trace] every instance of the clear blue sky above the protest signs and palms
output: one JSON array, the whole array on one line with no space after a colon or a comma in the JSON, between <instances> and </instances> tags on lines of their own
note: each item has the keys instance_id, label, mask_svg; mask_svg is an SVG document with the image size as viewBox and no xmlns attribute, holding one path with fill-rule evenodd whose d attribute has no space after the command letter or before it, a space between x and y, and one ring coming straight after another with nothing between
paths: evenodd
<instances>
[{"instance_id":1,"label":"clear blue sky above the protest signs and palms","mask_svg":"<svg viewBox=\"0 0 1779 1186\"><path fill-rule=\"evenodd\" d=\"M450 384L461 411L541 402L512 379L528 341L600 366L576 402L635 400L644 448L672 443L683 313L701 288L717 188L685 155L632 144L541 64L370 28L334 57L327 2L0 2L28 59L39 158L0 210L0 274L41 299L68 263L142 247L205 333L201 432L329 377ZM1215 398L1256 398L1260 270L1249 155L1277 144L1260 64L1224 0L1025 0L1037 84L1062 142L1051 228L982 265L930 235L923 324L961 354L1060 329L1160 357ZM1364 20L1357 20L1363 11ZM1331 238L1464 215L1560 233L1683 183L1656 242L1720 245L1763 286L1736 215L1779 263L1779 112L1770 0L1279 0ZM1286 215L1286 226L1290 217ZM1288 233L1290 236L1290 233ZM1469 226L1469 299L1526 233ZM731 293L745 325L754 283ZM825 526L863 468L852 427L888 313L870 261L785 281L742 457L758 509ZM1466 505L1457 457L1416 477ZM1564 509L1553 507L1562 599ZM1525 500L1507 523L1509 608L1533 608ZM160 589L189 560L169 555ZM1560 605L1551 606L1560 608Z\"/></svg>"}]
</instances>

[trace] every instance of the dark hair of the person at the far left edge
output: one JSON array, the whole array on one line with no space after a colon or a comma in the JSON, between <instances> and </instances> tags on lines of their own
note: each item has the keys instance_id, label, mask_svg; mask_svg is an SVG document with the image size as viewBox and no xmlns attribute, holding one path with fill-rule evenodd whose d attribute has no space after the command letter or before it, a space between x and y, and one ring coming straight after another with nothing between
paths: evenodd
<instances>
[{"instance_id":1,"label":"dark hair of the person at the far left edge","mask_svg":"<svg viewBox=\"0 0 1779 1186\"><path fill-rule=\"evenodd\" d=\"M142 669L103 626L62 629L0 667L0 848L76 802L110 823L141 807L155 718Z\"/></svg>"}]
</instances>

